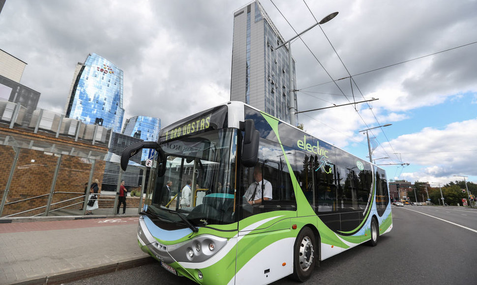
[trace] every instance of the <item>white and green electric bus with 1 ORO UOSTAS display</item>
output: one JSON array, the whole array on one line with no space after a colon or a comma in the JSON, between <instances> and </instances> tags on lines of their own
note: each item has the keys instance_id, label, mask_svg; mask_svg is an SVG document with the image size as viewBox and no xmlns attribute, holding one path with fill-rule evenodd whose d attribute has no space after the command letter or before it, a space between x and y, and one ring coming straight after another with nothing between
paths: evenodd
<instances>
[{"instance_id":1,"label":"white and green electric bus with 1 ORO UOSTAS display","mask_svg":"<svg viewBox=\"0 0 477 285\"><path fill-rule=\"evenodd\" d=\"M123 170L142 148L157 161L139 247L199 284L305 281L392 228L384 170L241 102L128 146Z\"/></svg>"}]
</instances>

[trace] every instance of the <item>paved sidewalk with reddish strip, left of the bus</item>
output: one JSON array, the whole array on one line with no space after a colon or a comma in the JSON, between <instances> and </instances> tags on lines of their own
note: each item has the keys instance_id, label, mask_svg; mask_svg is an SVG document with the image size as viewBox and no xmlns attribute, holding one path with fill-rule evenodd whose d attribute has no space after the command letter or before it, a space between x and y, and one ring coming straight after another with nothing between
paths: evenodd
<instances>
[{"instance_id":1,"label":"paved sidewalk with reddish strip, left of the bus","mask_svg":"<svg viewBox=\"0 0 477 285\"><path fill-rule=\"evenodd\" d=\"M0 219L0 285L60 284L151 262L138 247L137 227L137 209L119 216Z\"/></svg>"}]
</instances>

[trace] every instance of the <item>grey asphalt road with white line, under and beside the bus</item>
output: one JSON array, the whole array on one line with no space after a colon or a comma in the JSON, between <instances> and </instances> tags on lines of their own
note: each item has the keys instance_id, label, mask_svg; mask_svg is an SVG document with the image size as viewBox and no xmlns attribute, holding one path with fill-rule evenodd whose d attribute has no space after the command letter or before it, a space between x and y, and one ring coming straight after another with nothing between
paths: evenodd
<instances>
[{"instance_id":1,"label":"grey asphalt road with white line, under and beside the bus","mask_svg":"<svg viewBox=\"0 0 477 285\"><path fill-rule=\"evenodd\" d=\"M477 284L477 209L406 205L392 211L393 229L376 247L360 245L322 261L307 284ZM69 284L195 283L154 262ZM284 278L273 284L298 283Z\"/></svg>"}]
</instances>

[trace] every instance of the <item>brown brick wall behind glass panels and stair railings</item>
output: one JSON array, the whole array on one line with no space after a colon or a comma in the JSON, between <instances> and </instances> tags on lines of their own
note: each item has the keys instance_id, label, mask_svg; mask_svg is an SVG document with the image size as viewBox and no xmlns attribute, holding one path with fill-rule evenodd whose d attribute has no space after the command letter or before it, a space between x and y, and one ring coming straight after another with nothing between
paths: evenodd
<instances>
[{"instance_id":1,"label":"brown brick wall behind glass panels and stair railings","mask_svg":"<svg viewBox=\"0 0 477 285\"><path fill-rule=\"evenodd\" d=\"M2 157L0 162L0 189L4 190L8 179L8 174L10 173L10 169L13 164L15 153L12 147L1 145L0 155ZM10 191L8 192L6 201L12 202L44 194L50 194L57 163L58 156L53 154L50 155L47 152L33 149L20 149L20 154L18 156L13 179L10 184ZM80 194L57 193L53 195L52 203L84 195L84 184L85 182L88 182L91 166L92 164L89 159L62 155L60 161L60 170L58 172L55 185L55 192L77 192ZM102 180L104 166L104 161L97 160L95 162L93 179L98 179L99 181ZM82 200L83 198L53 205L50 207L50 210ZM5 205L2 216L46 206L47 202L48 196L44 196L28 201ZM79 207L79 205L75 207ZM16 215L15 217L33 216L44 213L45 210L46 208L41 208L24 214Z\"/></svg>"}]
</instances>

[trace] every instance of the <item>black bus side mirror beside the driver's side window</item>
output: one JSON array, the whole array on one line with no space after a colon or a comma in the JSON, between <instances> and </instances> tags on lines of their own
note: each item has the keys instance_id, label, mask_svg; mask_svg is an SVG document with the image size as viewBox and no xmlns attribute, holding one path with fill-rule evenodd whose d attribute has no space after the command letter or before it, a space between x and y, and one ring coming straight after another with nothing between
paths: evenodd
<instances>
[{"instance_id":1,"label":"black bus side mirror beside the driver's side window","mask_svg":"<svg viewBox=\"0 0 477 285\"><path fill-rule=\"evenodd\" d=\"M253 167L258 161L260 132L255 129L255 123L252 119L240 122L240 129L245 131L242 143L242 164L245 167Z\"/></svg>"}]
</instances>

